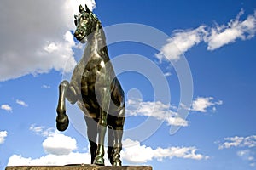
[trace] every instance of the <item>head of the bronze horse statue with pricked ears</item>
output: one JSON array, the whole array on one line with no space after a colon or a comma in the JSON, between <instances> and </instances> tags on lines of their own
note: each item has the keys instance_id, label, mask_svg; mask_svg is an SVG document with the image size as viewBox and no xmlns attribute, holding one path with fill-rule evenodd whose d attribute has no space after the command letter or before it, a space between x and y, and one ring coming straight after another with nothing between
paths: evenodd
<instances>
[{"instance_id":1,"label":"head of the bronze horse statue with pricked ears","mask_svg":"<svg viewBox=\"0 0 256 170\"><path fill-rule=\"evenodd\" d=\"M85 37L96 31L96 26L101 24L87 5L85 5L85 8L83 8L82 5L79 6L79 15L74 15L74 19L74 24L77 26L74 37L76 37L79 42L85 42Z\"/></svg>"}]
</instances>

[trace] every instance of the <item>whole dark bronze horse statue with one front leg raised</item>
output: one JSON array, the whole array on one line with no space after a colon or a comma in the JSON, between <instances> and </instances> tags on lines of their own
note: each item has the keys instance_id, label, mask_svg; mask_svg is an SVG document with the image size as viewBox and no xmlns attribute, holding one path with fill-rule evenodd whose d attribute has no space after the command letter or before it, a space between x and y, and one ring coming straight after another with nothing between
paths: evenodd
<instances>
[{"instance_id":1,"label":"whole dark bronze horse statue with one front leg raised","mask_svg":"<svg viewBox=\"0 0 256 170\"><path fill-rule=\"evenodd\" d=\"M71 81L64 80L59 86L56 127L65 131L68 126L65 99L71 104L77 103L84 112L91 163L104 165L104 139L108 128L108 160L113 166L121 166L125 97L108 57L102 24L86 5L85 8L79 6L74 23L77 26L74 37L79 42L87 39L87 44Z\"/></svg>"}]
</instances>

